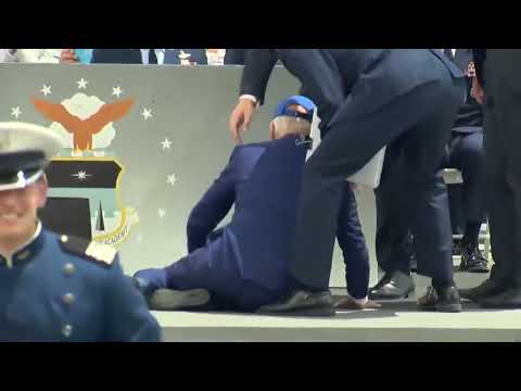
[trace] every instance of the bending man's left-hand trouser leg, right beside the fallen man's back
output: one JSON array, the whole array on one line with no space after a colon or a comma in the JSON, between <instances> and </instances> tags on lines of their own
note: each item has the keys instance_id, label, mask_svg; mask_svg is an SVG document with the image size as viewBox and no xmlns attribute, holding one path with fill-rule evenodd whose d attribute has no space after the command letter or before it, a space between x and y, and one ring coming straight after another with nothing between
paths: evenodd
<instances>
[{"instance_id":1,"label":"bending man's left-hand trouser leg, right beside the fallen man's back","mask_svg":"<svg viewBox=\"0 0 521 391\"><path fill-rule=\"evenodd\" d=\"M365 113L364 101L347 99L304 171L290 267L295 280L316 290L328 289L345 178L425 116L440 90L435 83L424 85L373 113Z\"/></svg>"}]
</instances>

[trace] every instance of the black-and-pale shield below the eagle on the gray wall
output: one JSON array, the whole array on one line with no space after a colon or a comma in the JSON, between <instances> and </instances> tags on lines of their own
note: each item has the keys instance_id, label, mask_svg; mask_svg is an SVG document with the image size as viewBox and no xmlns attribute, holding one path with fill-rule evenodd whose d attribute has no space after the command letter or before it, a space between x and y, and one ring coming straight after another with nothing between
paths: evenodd
<instances>
[{"instance_id":1,"label":"black-and-pale shield below the eagle on the gray wall","mask_svg":"<svg viewBox=\"0 0 521 391\"><path fill-rule=\"evenodd\" d=\"M117 245L137 223L136 211L124 207L119 182L124 173L115 157L58 157L48 171L50 210L42 218L53 230ZM58 217L60 216L60 217Z\"/></svg>"}]
</instances>

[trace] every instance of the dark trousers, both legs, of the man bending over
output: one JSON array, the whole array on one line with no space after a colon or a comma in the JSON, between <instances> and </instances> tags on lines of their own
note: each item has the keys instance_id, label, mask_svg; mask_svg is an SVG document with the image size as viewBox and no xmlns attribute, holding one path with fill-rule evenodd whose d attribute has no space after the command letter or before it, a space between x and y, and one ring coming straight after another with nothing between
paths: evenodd
<instances>
[{"instance_id":1,"label":"dark trousers, both legs, of the man bending over","mask_svg":"<svg viewBox=\"0 0 521 391\"><path fill-rule=\"evenodd\" d=\"M399 211L403 229L412 227L422 244L417 255L419 270L435 279L452 279L447 191L437 168L465 88L462 84L456 87L445 68L440 75L444 75L440 81L417 87L376 112L367 110L370 97L348 97L333 115L327 137L305 167L291 264L293 279L328 289L345 177L386 144L404 152L399 167L403 186L389 184L384 189L399 192L399 205L387 209Z\"/></svg>"}]
</instances>

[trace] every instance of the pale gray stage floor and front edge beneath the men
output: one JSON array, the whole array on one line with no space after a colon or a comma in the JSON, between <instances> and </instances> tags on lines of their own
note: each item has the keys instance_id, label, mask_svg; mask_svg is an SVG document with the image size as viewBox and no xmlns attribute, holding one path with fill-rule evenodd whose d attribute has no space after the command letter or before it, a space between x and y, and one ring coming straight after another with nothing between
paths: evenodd
<instances>
[{"instance_id":1,"label":"pale gray stage floor and front edge beneath the men","mask_svg":"<svg viewBox=\"0 0 521 391\"><path fill-rule=\"evenodd\" d=\"M460 288L486 275L457 273ZM416 294L428 279L415 276ZM342 289L332 289L343 293ZM340 312L331 318L270 317L231 313L154 313L165 341L521 341L521 311L483 311L465 302L460 314L418 312L416 297L382 302L379 311Z\"/></svg>"}]
</instances>

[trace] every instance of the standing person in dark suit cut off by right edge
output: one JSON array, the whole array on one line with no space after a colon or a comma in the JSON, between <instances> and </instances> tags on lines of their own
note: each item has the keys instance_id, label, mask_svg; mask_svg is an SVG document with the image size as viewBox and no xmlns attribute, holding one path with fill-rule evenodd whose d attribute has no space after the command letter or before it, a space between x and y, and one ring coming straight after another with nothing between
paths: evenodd
<instances>
[{"instance_id":1,"label":"standing person in dark suit cut off by right edge","mask_svg":"<svg viewBox=\"0 0 521 391\"><path fill-rule=\"evenodd\" d=\"M521 49L474 49L474 97L484 103L485 179L494 266L461 297L521 307ZM484 96L483 96L484 90Z\"/></svg>"}]
</instances>

